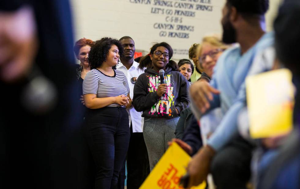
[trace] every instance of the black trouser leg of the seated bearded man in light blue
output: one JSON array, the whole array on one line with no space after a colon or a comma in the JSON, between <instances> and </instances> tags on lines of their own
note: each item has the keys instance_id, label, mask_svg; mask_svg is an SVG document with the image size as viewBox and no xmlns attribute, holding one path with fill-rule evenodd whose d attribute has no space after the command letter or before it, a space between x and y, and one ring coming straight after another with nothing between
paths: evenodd
<instances>
[{"instance_id":1,"label":"black trouser leg of the seated bearded man in light blue","mask_svg":"<svg viewBox=\"0 0 300 189\"><path fill-rule=\"evenodd\" d=\"M232 140L213 158L211 173L218 189L246 189L253 146L242 137Z\"/></svg>"}]
</instances>

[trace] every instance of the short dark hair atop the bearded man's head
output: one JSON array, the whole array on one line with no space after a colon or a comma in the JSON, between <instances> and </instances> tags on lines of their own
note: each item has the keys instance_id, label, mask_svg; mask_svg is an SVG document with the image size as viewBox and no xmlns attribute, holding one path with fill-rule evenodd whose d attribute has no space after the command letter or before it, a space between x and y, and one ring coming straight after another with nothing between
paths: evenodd
<instances>
[{"instance_id":1,"label":"short dark hair atop the bearded man's head","mask_svg":"<svg viewBox=\"0 0 300 189\"><path fill-rule=\"evenodd\" d=\"M227 0L227 5L234 6L238 13L264 15L269 8L269 0Z\"/></svg>"}]
</instances>

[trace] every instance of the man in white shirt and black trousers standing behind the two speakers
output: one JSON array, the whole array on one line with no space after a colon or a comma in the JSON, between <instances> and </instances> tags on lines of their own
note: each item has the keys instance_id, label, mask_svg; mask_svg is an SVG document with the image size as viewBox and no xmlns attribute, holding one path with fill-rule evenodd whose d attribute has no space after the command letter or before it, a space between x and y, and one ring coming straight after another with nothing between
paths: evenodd
<instances>
[{"instance_id":1,"label":"man in white shirt and black trousers standing behind the two speakers","mask_svg":"<svg viewBox=\"0 0 300 189\"><path fill-rule=\"evenodd\" d=\"M133 99L134 84L137 78L144 73L144 70L138 69L139 63L134 61L135 46L133 39L124 36L119 39L119 42L124 47L124 55L120 57L121 62L117 65L117 69L126 75L130 98ZM149 173L148 153L143 137L144 118L141 117L142 112L137 112L133 106L127 111L130 125L130 141L127 152L127 189L138 189ZM124 184L122 179L124 171L120 172L121 178L119 178L122 184Z\"/></svg>"}]
</instances>

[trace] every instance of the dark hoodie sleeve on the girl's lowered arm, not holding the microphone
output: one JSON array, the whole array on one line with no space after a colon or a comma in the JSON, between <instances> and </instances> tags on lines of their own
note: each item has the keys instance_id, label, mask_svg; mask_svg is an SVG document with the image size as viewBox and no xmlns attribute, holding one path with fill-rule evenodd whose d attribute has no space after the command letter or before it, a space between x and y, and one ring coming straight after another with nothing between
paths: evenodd
<instances>
[{"instance_id":1,"label":"dark hoodie sleeve on the girl's lowered arm, not holding the microphone","mask_svg":"<svg viewBox=\"0 0 300 189\"><path fill-rule=\"evenodd\" d=\"M178 72L179 73L179 72ZM175 108L178 110L178 114L187 107L189 107L189 84L184 78L183 75L179 74L179 81L180 81L180 86L179 86L179 94L178 98L180 98L180 102L175 105Z\"/></svg>"}]
</instances>

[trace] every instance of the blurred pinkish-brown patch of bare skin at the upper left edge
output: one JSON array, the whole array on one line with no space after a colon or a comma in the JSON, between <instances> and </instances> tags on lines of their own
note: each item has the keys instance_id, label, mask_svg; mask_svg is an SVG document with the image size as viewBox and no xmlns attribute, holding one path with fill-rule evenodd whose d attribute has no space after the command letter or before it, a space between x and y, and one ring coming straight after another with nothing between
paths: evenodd
<instances>
[{"instance_id":1,"label":"blurred pinkish-brown patch of bare skin at the upper left edge","mask_svg":"<svg viewBox=\"0 0 300 189\"><path fill-rule=\"evenodd\" d=\"M13 82L28 74L38 37L32 7L0 11L0 79Z\"/></svg>"}]
</instances>

